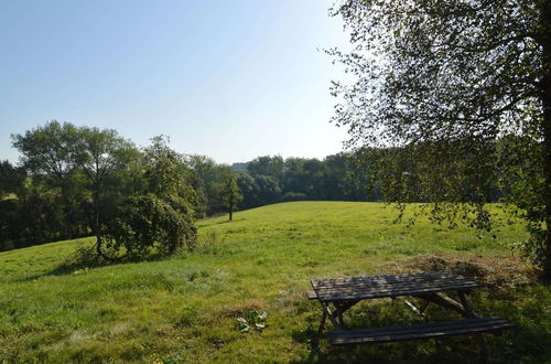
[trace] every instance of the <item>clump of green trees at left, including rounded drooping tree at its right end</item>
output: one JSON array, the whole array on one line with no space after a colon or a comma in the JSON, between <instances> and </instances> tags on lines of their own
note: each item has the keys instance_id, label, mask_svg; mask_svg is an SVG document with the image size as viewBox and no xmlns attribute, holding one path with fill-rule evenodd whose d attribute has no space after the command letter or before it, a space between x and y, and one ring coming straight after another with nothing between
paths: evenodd
<instances>
[{"instance_id":1,"label":"clump of green trees at left, including rounded drooping tree at its right end","mask_svg":"<svg viewBox=\"0 0 551 364\"><path fill-rule=\"evenodd\" d=\"M12 139L21 163L1 164L0 249L91 234L106 259L194 246L192 172L164 139L140 151L115 130L57 121Z\"/></svg>"}]
</instances>

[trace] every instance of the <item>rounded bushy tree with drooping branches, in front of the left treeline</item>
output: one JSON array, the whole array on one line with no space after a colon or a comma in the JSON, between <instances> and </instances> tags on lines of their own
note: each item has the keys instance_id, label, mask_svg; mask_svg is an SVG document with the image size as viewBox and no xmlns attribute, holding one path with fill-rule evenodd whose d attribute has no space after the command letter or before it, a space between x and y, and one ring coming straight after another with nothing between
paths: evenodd
<instances>
[{"instance_id":1,"label":"rounded bushy tree with drooping branches, in front of the left treeline","mask_svg":"<svg viewBox=\"0 0 551 364\"><path fill-rule=\"evenodd\" d=\"M195 191L187 183L191 171L184 157L169 148L162 136L143 150L143 190L129 196L107 228L112 258L171 255L180 247L193 249L197 242L193 203ZM106 254L100 253L102 257ZM122 255L123 254L123 255Z\"/></svg>"}]
</instances>

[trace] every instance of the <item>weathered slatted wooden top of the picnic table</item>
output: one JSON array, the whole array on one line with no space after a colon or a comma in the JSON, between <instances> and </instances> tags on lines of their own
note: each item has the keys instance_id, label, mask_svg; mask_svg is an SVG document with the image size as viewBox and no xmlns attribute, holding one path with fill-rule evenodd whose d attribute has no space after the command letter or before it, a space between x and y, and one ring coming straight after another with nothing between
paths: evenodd
<instances>
[{"instance_id":1,"label":"weathered slatted wooden top of the picnic table","mask_svg":"<svg viewBox=\"0 0 551 364\"><path fill-rule=\"evenodd\" d=\"M414 296L441 291L468 291L480 283L447 271L389 276L312 279L317 299L324 302Z\"/></svg>"}]
</instances>

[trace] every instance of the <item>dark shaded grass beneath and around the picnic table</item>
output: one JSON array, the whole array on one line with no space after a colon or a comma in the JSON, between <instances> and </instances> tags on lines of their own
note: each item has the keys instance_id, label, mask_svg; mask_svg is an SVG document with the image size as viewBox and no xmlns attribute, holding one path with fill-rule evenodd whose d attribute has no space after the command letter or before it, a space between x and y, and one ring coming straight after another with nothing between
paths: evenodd
<instances>
[{"instance_id":1,"label":"dark shaded grass beneath and around the picnic table","mask_svg":"<svg viewBox=\"0 0 551 364\"><path fill-rule=\"evenodd\" d=\"M485 290L476 296L477 307L484 315L498 315L517 324L501 335L484 334L489 346L489 363L550 363L551 317L549 287L533 282L515 290ZM428 311L431 321L454 319L447 310L432 307ZM385 302L360 304L348 314L349 328L376 328L406 324L415 321L409 310ZM309 347L309 353L295 363L483 363L479 345L472 335L411 342L358 345L356 347L331 346L317 333L317 317L309 320L309 326L292 332L292 339ZM461 319L461 318L456 318ZM346 318L345 318L346 320ZM411 323L411 322L410 322ZM332 330L331 328L328 330Z\"/></svg>"}]
</instances>

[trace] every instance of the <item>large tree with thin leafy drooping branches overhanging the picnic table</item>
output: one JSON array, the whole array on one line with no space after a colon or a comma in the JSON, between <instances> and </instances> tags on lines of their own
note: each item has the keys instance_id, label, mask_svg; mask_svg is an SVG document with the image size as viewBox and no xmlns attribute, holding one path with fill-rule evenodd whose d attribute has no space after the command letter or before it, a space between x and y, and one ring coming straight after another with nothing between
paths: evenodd
<instances>
[{"instance_id":1,"label":"large tree with thin leafy drooping branches overhanging the picnic table","mask_svg":"<svg viewBox=\"0 0 551 364\"><path fill-rule=\"evenodd\" d=\"M512 183L551 277L551 2L344 0L333 13L354 49L329 53L356 75L332 87L334 121L383 161L386 197L413 185L439 218L474 212L490 228L488 186Z\"/></svg>"}]
</instances>

